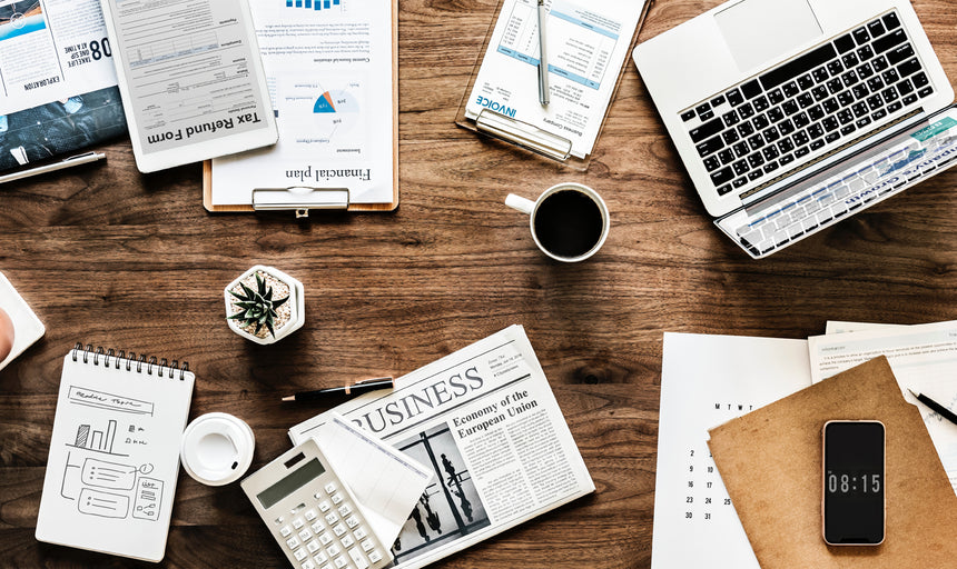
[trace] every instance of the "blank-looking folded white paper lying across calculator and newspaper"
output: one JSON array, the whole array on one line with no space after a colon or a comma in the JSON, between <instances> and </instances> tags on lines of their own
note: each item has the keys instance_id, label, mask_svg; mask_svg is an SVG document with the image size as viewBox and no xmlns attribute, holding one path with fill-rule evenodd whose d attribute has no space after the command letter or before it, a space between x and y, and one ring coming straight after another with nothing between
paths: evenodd
<instances>
[{"instance_id":1,"label":"blank-looking folded white paper lying across calculator and newspaper","mask_svg":"<svg viewBox=\"0 0 957 569\"><path fill-rule=\"evenodd\" d=\"M339 479L349 485L379 542L391 546L432 481L432 471L338 413L314 438Z\"/></svg>"}]
</instances>

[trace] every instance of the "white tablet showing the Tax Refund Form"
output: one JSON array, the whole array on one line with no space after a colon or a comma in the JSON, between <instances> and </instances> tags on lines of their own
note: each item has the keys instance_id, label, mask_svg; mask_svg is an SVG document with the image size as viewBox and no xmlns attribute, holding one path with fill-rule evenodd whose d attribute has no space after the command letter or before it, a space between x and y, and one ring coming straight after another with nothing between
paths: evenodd
<instances>
[{"instance_id":1,"label":"white tablet showing the Tax Refund Form","mask_svg":"<svg viewBox=\"0 0 957 569\"><path fill-rule=\"evenodd\" d=\"M247 0L100 2L141 172L276 142Z\"/></svg>"}]
</instances>

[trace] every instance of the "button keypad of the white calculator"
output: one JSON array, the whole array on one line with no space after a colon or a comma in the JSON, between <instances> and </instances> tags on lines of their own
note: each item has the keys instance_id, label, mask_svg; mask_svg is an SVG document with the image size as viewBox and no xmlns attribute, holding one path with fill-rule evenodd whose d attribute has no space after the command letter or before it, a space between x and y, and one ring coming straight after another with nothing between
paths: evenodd
<instances>
[{"instance_id":1,"label":"button keypad of the white calculator","mask_svg":"<svg viewBox=\"0 0 957 569\"><path fill-rule=\"evenodd\" d=\"M313 496L316 502L278 530L298 569L368 569L383 559L355 506L335 482Z\"/></svg>"}]
</instances>

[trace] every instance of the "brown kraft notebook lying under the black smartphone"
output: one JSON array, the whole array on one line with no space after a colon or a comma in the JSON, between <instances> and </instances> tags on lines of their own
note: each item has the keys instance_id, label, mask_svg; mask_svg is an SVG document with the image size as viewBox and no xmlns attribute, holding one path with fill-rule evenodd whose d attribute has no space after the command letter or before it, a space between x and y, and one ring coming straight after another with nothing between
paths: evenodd
<instances>
[{"instance_id":1,"label":"brown kraft notebook lying under the black smartphone","mask_svg":"<svg viewBox=\"0 0 957 569\"><path fill-rule=\"evenodd\" d=\"M831 547L821 537L821 428L832 419L879 420L886 427L880 546ZM762 569L957 567L957 496L887 358L709 432L718 471Z\"/></svg>"}]
</instances>

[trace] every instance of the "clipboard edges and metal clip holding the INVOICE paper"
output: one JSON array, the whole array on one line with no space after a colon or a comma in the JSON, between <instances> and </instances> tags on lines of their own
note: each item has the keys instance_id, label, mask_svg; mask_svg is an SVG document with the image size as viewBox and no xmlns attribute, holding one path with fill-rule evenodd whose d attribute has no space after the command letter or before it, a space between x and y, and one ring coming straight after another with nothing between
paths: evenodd
<instances>
[{"instance_id":1,"label":"clipboard edges and metal clip holding the INVOICE paper","mask_svg":"<svg viewBox=\"0 0 957 569\"><path fill-rule=\"evenodd\" d=\"M468 83L465 87L465 92L463 93L462 101L458 106L458 112L455 116L455 123L466 130L471 130L473 132L484 134L495 140L517 147L533 156L543 157L551 161L559 162L562 166L583 172L588 170L589 163L591 162L591 156L594 151L594 146L592 147L591 152L585 154L583 158L579 158L576 156L573 156L572 153L573 142L571 139L555 133L552 130L543 129L530 122L516 119L504 112L496 111L491 107L483 108L474 118L468 117L466 108L472 99L473 89L475 88L475 82L478 79L478 73L482 70L482 64L485 61L485 57L489 51L489 43L492 41L493 36L495 34L495 27L499 23L499 20L504 17L502 13L502 9L505 4L505 1L506 0L499 0L499 4L495 8L496 17L489 26L489 32L485 36L485 41L482 43L482 48L478 51L478 57L476 59L475 67L472 72L472 77L468 79ZM598 132L595 134L594 144L598 144L598 140L599 138L601 138L601 132L604 129L604 121L608 118L609 109L611 108L612 101L614 101L615 97L618 96L618 90L621 87L621 78L622 76L624 76L625 69L628 69L628 53L630 53L630 50L638 40L639 33L641 33L641 28L644 24L645 18L648 17L649 9L653 3L654 0L647 0L641 9L641 14L639 16L638 23L634 28L634 33L629 40L628 49L625 50L625 57L622 61L621 69L618 70L618 76L614 80L614 88L612 89L608 102L604 104L604 109L602 110L601 123L599 124ZM526 61L527 59L527 57L523 54L516 54L514 57L523 61ZM531 61L527 60L526 62ZM550 64L550 68L552 66ZM531 73L531 71L529 73L527 80L534 80L534 74Z\"/></svg>"}]
</instances>

